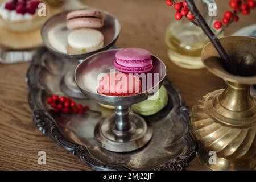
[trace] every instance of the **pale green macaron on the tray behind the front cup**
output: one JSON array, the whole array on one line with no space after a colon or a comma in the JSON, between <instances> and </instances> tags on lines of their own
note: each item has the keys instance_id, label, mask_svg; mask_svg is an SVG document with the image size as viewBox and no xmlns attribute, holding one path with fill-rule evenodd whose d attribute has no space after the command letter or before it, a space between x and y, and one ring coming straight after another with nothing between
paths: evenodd
<instances>
[{"instance_id":1,"label":"pale green macaron on the tray behind the front cup","mask_svg":"<svg viewBox=\"0 0 256 182\"><path fill-rule=\"evenodd\" d=\"M158 90L158 98L155 100L145 100L143 102L139 102L138 104L134 104L131 106L131 109L134 113L149 116L158 113L162 110L168 103L168 94L167 90L164 86L162 86Z\"/></svg>"}]
</instances>

